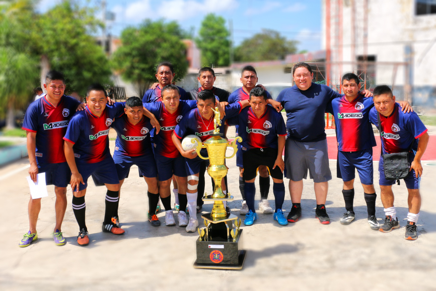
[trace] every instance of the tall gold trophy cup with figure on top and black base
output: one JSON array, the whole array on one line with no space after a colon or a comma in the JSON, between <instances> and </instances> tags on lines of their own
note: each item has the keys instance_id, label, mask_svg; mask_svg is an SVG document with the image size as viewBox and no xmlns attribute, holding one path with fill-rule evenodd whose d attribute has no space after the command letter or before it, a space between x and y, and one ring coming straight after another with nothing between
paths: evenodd
<instances>
[{"instance_id":1,"label":"tall gold trophy cup with figure on top and black base","mask_svg":"<svg viewBox=\"0 0 436 291\"><path fill-rule=\"evenodd\" d=\"M227 195L224 194L221 188L221 181L229 170L225 164L225 159L232 158L236 154L238 150L236 142L242 142L242 138L237 137L232 142L223 139L221 137L223 134L220 133L219 129L221 119L218 107L215 107L213 111L215 112L213 133L210 138L201 144L197 144L196 147L197 155L201 159L209 159L207 173L212 177L215 187L212 195L205 193L203 197L203 201L213 201L213 207L210 213L201 215L201 217L204 218L206 231L204 234L203 229L201 231L199 230L200 237L197 240L197 260L194 263L194 267L242 269L247 253L245 250L240 250L242 247L242 229L239 229L238 216L227 214L223 204L223 201L233 201L233 196L230 195L229 191ZM197 140L192 139L191 142L196 143ZM226 156L227 147L232 147L234 150L233 154L229 157ZM207 150L208 158L200 154L200 150L203 148ZM232 230L229 228L229 223L232 226ZM227 238L224 228L227 229ZM224 247L225 245L227 245L226 248ZM214 250L211 246L217 247L218 249ZM223 246L223 250L220 249L220 246ZM210 252L211 250L212 252Z\"/></svg>"}]
</instances>

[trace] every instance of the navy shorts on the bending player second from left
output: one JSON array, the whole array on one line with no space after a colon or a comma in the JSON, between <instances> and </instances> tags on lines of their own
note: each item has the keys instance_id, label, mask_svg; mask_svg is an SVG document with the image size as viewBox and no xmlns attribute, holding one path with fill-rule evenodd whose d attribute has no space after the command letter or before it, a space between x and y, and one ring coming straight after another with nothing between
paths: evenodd
<instances>
[{"instance_id":1,"label":"navy shorts on the bending player second from left","mask_svg":"<svg viewBox=\"0 0 436 291\"><path fill-rule=\"evenodd\" d=\"M101 162L96 163L78 163L76 161L77 169L82 175L83 182L79 186L79 191L88 187L88 178L92 176L95 186L103 186L104 184L119 184L117 169L115 167L112 157L107 157ZM74 189L75 192L77 190Z\"/></svg>"}]
</instances>

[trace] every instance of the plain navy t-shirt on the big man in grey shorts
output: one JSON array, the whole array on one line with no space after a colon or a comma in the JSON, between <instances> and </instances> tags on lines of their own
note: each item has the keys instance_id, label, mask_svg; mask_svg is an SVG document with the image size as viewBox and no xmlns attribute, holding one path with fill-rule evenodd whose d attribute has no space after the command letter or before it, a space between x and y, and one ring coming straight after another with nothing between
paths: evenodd
<instances>
[{"instance_id":1,"label":"plain navy t-shirt on the big man in grey shorts","mask_svg":"<svg viewBox=\"0 0 436 291\"><path fill-rule=\"evenodd\" d=\"M297 85L281 91L276 101L286 111L287 137L300 142L325 140L324 113L327 104L338 97L341 94L330 87L315 83L305 91Z\"/></svg>"}]
</instances>

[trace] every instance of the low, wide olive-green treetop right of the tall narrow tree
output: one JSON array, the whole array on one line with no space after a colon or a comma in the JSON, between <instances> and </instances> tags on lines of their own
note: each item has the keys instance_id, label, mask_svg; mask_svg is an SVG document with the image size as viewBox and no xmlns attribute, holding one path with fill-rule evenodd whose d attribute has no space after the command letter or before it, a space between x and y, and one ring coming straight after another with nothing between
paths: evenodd
<instances>
[{"instance_id":1,"label":"low, wide olive-green treetop right of the tall narrow tree","mask_svg":"<svg viewBox=\"0 0 436 291\"><path fill-rule=\"evenodd\" d=\"M261 33L245 39L235 48L235 61L284 60L286 54L297 52L297 43L296 40L286 40L277 31L263 29Z\"/></svg>"}]
</instances>

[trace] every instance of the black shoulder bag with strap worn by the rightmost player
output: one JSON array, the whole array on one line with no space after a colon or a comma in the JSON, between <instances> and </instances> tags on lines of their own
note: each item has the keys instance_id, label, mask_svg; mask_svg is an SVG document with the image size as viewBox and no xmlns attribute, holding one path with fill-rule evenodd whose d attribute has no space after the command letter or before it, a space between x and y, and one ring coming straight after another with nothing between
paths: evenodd
<instances>
[{"instance_id":1,"label":"black shoulder bag with strap worn by the rightmost player","mask_svg":"<svg viewBox=\"0 0 436 291\"><path fill-rule=\"evenodd\" d=\"M377 119L379 122L380 138L383 138L379 112L377 112ZM396 180L398 185L400 185L400 179L407 177L409 174L409 152L412 149L413 142L414 141L412 141L412 144L406 152L383 154L382 147L381 155L383 157L386 180Z\"/></svg>"}]
</instances>

